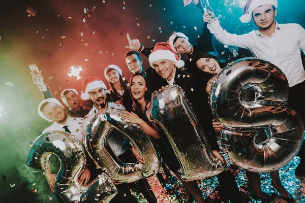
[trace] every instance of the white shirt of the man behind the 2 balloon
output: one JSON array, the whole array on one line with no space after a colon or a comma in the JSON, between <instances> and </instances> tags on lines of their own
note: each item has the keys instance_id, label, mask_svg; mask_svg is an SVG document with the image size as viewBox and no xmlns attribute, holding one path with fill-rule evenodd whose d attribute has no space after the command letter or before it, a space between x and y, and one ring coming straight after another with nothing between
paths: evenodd
<instances>
[{"instance_id":1,"label":"white shirt of the man behind the 2 balloon","mask_svg":"<svg viewBox=\"0 0 305 203\"><path fill-rule=\"evenodd\" d=\"M42 131L42 133L51 131L51 130L59 130L66 131L64 126L68 126L71 134L73 134L80 142L84 141L84 131L83 131L83 118L71 118L68 117L68 120L65 125L53 123L50 127L47 127Z\"/></svg>"}]
</instances>

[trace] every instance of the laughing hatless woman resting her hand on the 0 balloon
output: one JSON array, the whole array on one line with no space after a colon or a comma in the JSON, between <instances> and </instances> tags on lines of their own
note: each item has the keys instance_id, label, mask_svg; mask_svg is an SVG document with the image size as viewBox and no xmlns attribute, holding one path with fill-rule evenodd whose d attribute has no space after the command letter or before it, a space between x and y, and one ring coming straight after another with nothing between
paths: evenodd
<instances>
[{"instance_id":1,"label":"laughing hatless woman resting her hand on the 0 balloon","mask_svg":"<svg viewBox=\"0 0 305 203\"><path fill-rule=\"evenodd\" d=\"M146 76L140 73L136 73L130 79L130 92L134 104L134 112L125 112L121 117L127 119L126 122L138 124L152 139L156 140L159 150L165 163L169 169L175 173L177 178L184 185L187 196L189 198L192 194L197 202L204 202L201 197L201 192L198 188L196 181L185 182L178 174L180 164L176 158L173 149L165 134L163 134L160 126L151 121L149 115L147 115L147 109L150 107L151 92L147 83ZM137 156L138 160L142 160L142 157Z\"/></svg>"}]
</instances>

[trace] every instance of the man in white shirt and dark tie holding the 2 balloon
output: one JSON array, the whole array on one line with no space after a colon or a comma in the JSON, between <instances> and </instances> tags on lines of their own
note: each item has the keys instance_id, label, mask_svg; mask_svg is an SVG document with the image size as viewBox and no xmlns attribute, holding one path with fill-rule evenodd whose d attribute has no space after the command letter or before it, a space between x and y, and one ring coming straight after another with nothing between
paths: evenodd
<instances>
[{"instance_id":1,"label":"man in white shirt and dark tie holding the 2 balloon","mask_svg":"<svg viewBox=\"0 0 305 203\"><path fill-rule=\"evenodd\" d=\"M77 139L83 142L84 133L82 130L82 118L70 118L67 116L64 106L55 98L47 98L41 101L38 106L38 114L47 121L54 123L43 130L43 133L51 130L66 131L73 134ZM88 161L87 161L88 162ZM51 174L49 170L46 178L51 190L54 192L56 174ZM90 171L86 167L79 177L79 183L85 185L89 182Z\"/></svg>"}]
</instances>

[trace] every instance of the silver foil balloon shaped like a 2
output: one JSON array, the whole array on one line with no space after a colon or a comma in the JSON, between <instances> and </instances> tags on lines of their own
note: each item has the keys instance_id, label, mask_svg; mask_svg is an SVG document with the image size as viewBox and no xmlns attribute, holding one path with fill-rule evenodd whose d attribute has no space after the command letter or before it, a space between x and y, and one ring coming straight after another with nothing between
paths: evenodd
<instances>
[{"instance_id":1,"label":"silver foil balloon shaped like a 2","mask_svg":"<svg viewBox=\"0 0 305 203\"><path fill-rule=\"evenodd\" d=\"M55 194L61 201L108 202L117 194L116 187L104 173L80 186L77 178L85 167L86 155L82 143L72 134L55 130L41 134L29 149L26 165L47 172L51 155L60 161Z\"/></svg>"}]
</instances>

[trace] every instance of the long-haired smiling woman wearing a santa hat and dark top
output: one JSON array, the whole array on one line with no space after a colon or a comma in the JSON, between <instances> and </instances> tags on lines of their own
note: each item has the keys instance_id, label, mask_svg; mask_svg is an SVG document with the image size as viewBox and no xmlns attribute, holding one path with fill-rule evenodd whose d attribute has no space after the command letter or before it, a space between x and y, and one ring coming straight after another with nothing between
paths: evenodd
<instances>
[{"instance_id":1,"label":"long-haired smiling woman wearing a santa hat and dark top","mask_svg":"<svg viewBox=\"0 0 305 203\"><path fill-rule=\"evenodd\" d=\"M123 79L122 70L116 65L108 65L104 74L110 86L107 98L111 102L123 105L127 111L132 111L129 83Z\"/></svg>"}]
</instances>

